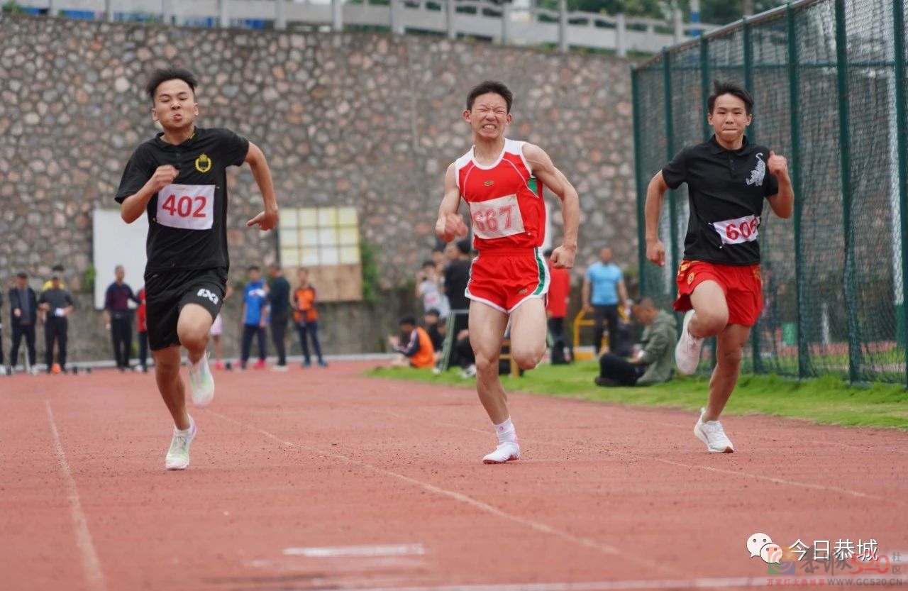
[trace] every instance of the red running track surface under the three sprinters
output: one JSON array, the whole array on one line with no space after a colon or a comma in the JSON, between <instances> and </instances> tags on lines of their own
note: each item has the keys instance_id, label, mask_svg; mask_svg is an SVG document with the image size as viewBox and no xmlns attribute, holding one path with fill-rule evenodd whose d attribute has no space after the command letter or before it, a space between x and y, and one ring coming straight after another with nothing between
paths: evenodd
<instances>
[{"instance_id":1,"label":"red running track surface under the three sprinters","mask_svg":"<svg viewBox=\"0 0 908 591\"><path fill-rule=\"evenodd\" d=\"M151 375L0 379L0 588L724 588L766 585L755 532L908 550L908 434L727 417L710 455L689 413L514 395L524 458L485 466L474 392L369 365L217 373L184 472Z\"/></svg>"}]
</instances>

